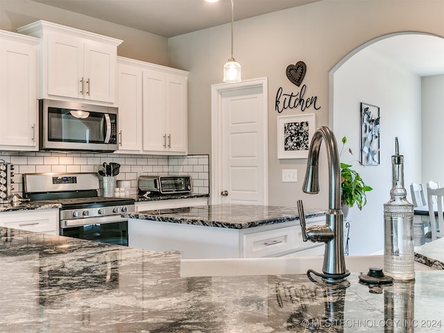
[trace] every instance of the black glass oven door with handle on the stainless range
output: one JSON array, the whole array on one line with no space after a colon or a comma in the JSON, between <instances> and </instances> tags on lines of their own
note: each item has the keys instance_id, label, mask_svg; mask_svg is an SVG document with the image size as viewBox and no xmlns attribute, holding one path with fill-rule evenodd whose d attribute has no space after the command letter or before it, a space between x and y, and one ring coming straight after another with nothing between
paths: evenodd
<instances>
[{"instance_id":1,"label":"black glass oven door with handle on the stainless range","mask_svg":"<svg viewBox=\"0 0 444 333\"><path fill-rule=\"evenodd\" d=\"M128 246L128 219L106 216L80 220L60 221L60 235Z\"/></svg>"}]
</instances>

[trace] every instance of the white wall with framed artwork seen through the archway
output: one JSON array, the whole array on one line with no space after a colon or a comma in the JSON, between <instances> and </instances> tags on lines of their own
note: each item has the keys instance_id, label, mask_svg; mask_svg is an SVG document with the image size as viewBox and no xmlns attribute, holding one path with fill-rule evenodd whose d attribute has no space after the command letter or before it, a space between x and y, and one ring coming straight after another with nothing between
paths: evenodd
<instances>
[{"instance_id":1,"label":"white wall with framed artwork seen through the archway","mask_svg":"<svg viewBox=\"0 0 444 333\"><path fill-rule=\"evenodd\" d=\"M419 76L380 58L368 48L359 51L334 74L333 128L337 139L344 135L354 153L343 153L341 162L353 165L373 191L362 211L350 209L350 255L383 250L384 210L390 199L391 155L398 137L404 155L404 186L420 182L421 80ZM360 102L379 106L381 117L380 164L359 165ZM409 193L409 191L407 192Z\"/></svg>"}]
</instances>

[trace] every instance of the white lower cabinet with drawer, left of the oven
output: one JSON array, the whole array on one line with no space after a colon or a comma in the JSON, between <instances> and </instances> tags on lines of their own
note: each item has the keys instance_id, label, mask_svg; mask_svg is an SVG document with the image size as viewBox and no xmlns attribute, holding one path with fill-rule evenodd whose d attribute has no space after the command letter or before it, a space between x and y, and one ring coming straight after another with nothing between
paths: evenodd
<instances>
[{"instance_id":1,"label":"white lower cabinet with drawer, left of the oven","mask_svg":"<svg viewBox=\"0 0 444 333\"><path fill-rule=\"evenodd\" d=\"M0 212L0 226L46 234L59 234L59 210Z\"/></svg>"}]
</instances>

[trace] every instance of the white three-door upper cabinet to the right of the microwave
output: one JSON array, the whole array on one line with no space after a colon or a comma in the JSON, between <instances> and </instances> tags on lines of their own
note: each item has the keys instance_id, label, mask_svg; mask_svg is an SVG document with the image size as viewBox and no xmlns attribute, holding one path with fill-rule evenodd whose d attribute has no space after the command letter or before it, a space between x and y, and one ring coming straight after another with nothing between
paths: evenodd
<instances>
[{"instance_id":1,"label":"white three-door upper cabinet to the right of the microwave","mask_svg":"<svg viewBox=\"0 0 444 333\"><path fill-rule=\"evenodd\" d=\"M187 155L187 71L118 57L119 151Z\"/></svg>"}]
</instances>

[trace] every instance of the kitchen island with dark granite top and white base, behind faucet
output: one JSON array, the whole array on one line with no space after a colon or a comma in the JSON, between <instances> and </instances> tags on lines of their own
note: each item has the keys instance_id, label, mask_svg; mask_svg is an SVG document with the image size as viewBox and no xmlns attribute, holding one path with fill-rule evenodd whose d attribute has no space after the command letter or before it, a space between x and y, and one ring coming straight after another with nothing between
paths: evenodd
<instances>
[{"instance_id":1,"label":"kitchen island with dark granite top and white base, behind faucet","mask_svg":"<svg viewBox=\"0 0 444 333\"><path fill-rule=\"evenodd\" d=\"M307 210L307 225L325 224L325 210ZM321 255L322 243L303 242L296 207L200 205L128 212L129 246L180 250L182 258Z\"/></svg>"}]
</instances>

